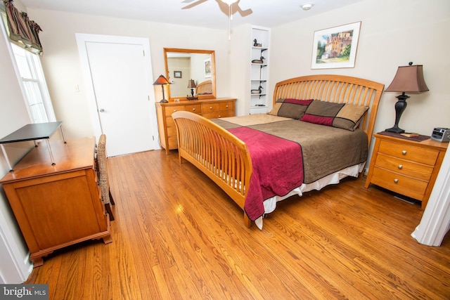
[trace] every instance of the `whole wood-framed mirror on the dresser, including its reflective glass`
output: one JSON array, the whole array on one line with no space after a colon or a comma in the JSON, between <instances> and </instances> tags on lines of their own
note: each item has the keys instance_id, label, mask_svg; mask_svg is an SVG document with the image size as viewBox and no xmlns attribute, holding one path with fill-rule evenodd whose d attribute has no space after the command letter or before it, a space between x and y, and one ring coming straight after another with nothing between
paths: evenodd
<instances>
[{"instance_id":1,"label":"whole wood-framed mirror on the dresser, including its reflective glass","mask_svg":"<svg viewBox=\"0 0 450 300\"><path fill-rule=\"evenodd\" d=\"M193 89L195 98L216 98L216 69L214 51L164 48L169 100L186 100ZM195 88L190 80L195 83Z\"/></svg>"}]
</instances>

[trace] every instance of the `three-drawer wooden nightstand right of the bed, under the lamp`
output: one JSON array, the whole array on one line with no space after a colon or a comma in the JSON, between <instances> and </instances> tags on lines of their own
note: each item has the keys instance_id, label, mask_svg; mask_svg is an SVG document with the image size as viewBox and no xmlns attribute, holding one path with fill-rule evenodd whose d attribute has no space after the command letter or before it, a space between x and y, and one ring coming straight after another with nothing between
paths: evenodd
<instances>
[{"instance_id":1,"label":"three-drawer wooden nightstand right of the bed, under the lamp","mask_svg":"<svg viewBox=\"0 0 450 300\"><path fill-rule=\"evenodd\" d=\"M371 183L427 206L449 143L428 138L414 141L398 133L375 133L375 146L366 178Z\"/></svg>"}]
</instances>

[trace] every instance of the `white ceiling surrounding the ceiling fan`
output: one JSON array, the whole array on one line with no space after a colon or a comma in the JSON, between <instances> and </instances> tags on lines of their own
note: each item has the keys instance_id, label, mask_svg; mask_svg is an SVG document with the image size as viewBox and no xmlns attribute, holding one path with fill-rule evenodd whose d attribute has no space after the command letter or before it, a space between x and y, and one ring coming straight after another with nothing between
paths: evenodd
<instances>
[{"instance_id":1,"label":"white ceiling surrounding the ceiling fan","mask_svg":"<svg viewBox=\"0 0 450 300\"><path fill-rule=\"evenodd\" d=\"M181 9L200 1L189 9ZM244 23L263 27L275 27L311 15L317 15L335 8L354 4L363 0L239 0L238 6L252 14L242 17L233 4L231 27ZM179 25L192 25L226 30L229 19L220 7L220 0L20 0L27 8L40 8L51 11L66 11L116 18L165 22ZM302 4L313 3L309 11L303 11ZM221 6L219 6L221 4ZM32 16L31 16L32 17Z\"/></svg>"}]
</instances>

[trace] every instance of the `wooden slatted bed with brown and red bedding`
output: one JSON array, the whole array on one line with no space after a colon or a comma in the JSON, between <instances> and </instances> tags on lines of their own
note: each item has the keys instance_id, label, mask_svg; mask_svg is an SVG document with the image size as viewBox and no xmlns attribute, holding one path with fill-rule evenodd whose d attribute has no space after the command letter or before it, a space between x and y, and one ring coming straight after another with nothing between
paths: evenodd
<instances>
[{"instance_id":1,"label":"wooden slatted bed with brown and red bedding","mask_svg":"<svg viewBox=\"0 0 450 300\"><path fill-rule=\"evenodd\" d=\"M203 171L262 229L276 202L358 177L384 85L342 75L278 82L267 114L205 119L172 114L180 163Z\"/></svg>"}]
</instances>

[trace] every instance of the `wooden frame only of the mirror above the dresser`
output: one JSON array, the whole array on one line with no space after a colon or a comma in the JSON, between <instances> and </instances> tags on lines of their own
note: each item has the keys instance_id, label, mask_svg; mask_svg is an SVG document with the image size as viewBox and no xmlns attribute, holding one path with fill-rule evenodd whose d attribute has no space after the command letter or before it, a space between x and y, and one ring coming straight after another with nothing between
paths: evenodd
<instances>
[{"instance_id":1,"label":"wooden frame only of the mirror above the dresser","mask_svg":"<svg viewBox=\"0 0 450 300\"><path fill-rule=\"evenodd\" d=\"M167 53L199 53L199 54L210 54L211 56L211 82L212 82L212 94L211 95L198 95L198 100L202 99L214 99L216 98L216 55L214 50L200 50L200 49L181 49L181 48L164 48L164 63L166 67L166 78L169 79L169 65L167 63ZM186 96L172 96L170 94L170 84L167 84L167 98L169 101L174 101L175 98L182 100L188 100Z\"/></svg>"}]
</instances>

